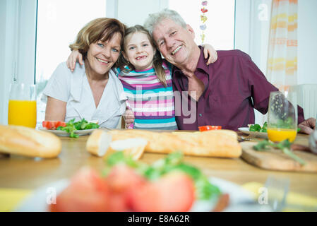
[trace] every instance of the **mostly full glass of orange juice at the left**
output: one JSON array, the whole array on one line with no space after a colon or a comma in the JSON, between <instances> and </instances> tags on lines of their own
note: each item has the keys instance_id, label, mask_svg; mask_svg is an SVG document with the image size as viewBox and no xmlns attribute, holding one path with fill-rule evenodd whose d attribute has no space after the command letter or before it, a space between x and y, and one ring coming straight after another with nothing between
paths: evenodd
<instances>
[{"instance_id":1,"label":"mostly full glass of orange juice at the left","mask_svg":"<svg viewBox=\"0 0 317 226\"><path fill-rule=\"evenodd\" d=\"M12 83L8 100L8 124L16 126L36 126L35 85Z\"/></svg>"}]
</instances>

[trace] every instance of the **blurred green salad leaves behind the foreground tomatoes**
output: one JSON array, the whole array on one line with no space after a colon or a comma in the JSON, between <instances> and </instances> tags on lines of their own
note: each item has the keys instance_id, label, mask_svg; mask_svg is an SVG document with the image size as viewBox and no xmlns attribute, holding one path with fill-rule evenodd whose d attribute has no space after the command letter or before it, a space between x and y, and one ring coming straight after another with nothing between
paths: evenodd
<instances>
[{"instance_id":1,"label":"blurred green salad leaves behind the foreground tomatoes","mask_svg":"<svg viewBox=\"0 0 317 226\"><path fill-rule=\"evenodd\" d=\"M193 179L198 199L208 200L221 194L220 189L210 184L208 178L200 169L184 162L184 155L181 152L171 153L167 157L153 162L152 165L136 162L131 157L124 156L123 152L116 152L107 158L106 163L107 167L104 169L104 174L107 174L109 169L116 164L126 164L149 180L155 180L164 174L179 170Z\"/></svg>"}]
</instances>

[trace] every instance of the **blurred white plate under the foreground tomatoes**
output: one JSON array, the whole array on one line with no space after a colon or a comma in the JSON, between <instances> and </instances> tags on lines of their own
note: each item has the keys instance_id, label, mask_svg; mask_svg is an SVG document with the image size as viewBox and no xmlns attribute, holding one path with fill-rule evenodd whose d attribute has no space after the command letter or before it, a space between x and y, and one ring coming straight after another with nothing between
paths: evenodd
<instances>
[{"instance_id":1,"label":"blurred white plate under the foreground tomatoes","mask_svg":"<svg viewBox=\"0 0 317 226\"><path fill-rule=\"evenodd\" d=\"M270 211L268 206L258 205L257 209L252 205L245 205L241 203L248 203L253 201L253 194L241 186L234 184L232 182L225 181L224 179L219 179L212 177L209 179L210 183L218 186L222 193L229 194L229 206L225 211ZM47 184L39 189L35 190L28 198L26 198L20 206L16 208L18 212L45 212L47 211L47 201L52 201L52 194L56 192L59 194L63 189L68 186L69 180L62 179L57 182ZM217 200L213 201L196 201L193 203L191 211L193 212L209 212L213 210Z\"/></svg>"}]
</instances>

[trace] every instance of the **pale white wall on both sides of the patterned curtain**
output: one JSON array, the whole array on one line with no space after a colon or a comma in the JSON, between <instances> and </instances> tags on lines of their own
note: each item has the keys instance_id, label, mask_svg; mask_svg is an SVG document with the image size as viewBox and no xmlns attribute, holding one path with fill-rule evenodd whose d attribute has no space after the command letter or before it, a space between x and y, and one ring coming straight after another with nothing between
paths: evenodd
<instances>
[{"instance_id":1,"label":"pale white wall on both sides of the patterned curtain","mask_svg":"<svg viewBox=\"0 0 317 226\"><path fill-rule=\"evenodd\" d=\"M235 48L248 53L265 74L268 48L269 20L263 16L263 6L272 0L236 1ZM317 1L298 0L298 84L317 84Z\"/></svg>"}]
</instances>

